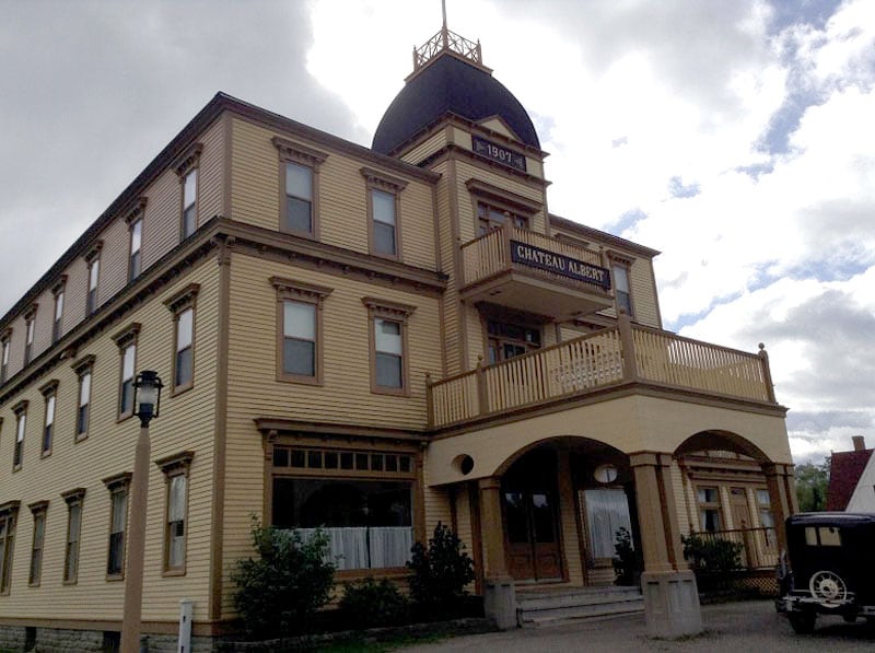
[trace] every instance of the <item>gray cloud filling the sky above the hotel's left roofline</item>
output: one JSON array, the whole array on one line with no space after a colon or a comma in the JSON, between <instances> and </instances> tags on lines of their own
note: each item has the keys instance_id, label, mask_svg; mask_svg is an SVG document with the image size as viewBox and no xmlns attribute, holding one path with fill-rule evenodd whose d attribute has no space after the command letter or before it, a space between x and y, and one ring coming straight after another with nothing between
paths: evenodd
<instances>
[{"instance_id":1,"label":"gray cloud filling the sky above the hotel's left roofline","mask_svg":"<svg viewBox=\"0 0 875 653\"><path fill-rule=\"evenodd\" d=\"M0 2L0 240L15 243L0 267L0 314L218 91L365 142L305 69L306 10Z\"/></svg>"}]
</instances>

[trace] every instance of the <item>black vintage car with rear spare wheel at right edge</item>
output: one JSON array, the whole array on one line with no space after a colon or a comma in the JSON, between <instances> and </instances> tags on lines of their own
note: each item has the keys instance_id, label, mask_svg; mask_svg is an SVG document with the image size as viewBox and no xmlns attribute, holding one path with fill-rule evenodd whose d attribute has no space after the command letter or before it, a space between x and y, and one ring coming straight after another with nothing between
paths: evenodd
<instances>
[{"instance_id":1,"label":"black vintage car with rear spare wheel at right edge","mask_svg":"<svg viewBox=\"0 0 875 653\"><path fill-rule=\"evenodd\" d=\"M814 630L817 615L875 619L875 514L802 513L786 521L790 569L779 569L779 611L793 630Z\"/></svg>"}]
</instances>

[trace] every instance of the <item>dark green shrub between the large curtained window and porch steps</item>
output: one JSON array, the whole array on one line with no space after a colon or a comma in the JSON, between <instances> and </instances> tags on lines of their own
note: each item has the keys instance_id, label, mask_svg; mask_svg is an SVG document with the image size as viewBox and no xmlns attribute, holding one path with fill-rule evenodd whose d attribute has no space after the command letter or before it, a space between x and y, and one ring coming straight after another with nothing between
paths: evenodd
<instances>
[{"instance_id":1,"label":"dark green shrub between the large curtained window and porch steps","mask_svg":"<svg viewBox=\"0 0 875 653\"><path fill-rule=\"evenodd\" d=\"M467 596L465 586L475 578L474 561L464 548L458 536L441 522L434 527L428 548L422 543L413 545L407 569L412 572L408 583L416 603L443 615L453 614L464 604L459 599Z\"/></svg>"}]
</instances>

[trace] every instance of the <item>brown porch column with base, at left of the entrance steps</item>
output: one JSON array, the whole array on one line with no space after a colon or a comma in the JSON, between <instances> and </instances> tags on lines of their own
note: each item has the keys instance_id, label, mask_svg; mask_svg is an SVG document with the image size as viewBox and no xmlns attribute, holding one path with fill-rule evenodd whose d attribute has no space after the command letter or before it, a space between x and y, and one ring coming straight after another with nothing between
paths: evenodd
<instances>
[{"instance_id":1,"label":"brown porch column with base, at left of the entrance steps","mask_svg":"<svg viewBox=\"0 0 875 653\"><path fill-rule=\"evenodd\" d=\"M483 610L500 629L508 630L516 628L516 594L505 562L501 478L481 478L478 482L485 565Z\"/></svg>"}]
</instances>

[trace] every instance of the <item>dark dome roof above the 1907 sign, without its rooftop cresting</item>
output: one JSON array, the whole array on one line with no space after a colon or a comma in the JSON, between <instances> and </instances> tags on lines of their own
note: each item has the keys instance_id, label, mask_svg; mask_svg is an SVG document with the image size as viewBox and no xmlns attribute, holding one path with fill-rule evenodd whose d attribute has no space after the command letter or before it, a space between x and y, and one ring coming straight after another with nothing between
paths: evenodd
<instances>
[{"instance_id":1,"label":"dark dome roof above the 1907 sign, without its rooftop cresting","mask_svg":"<svg viewBox=\"0 0 875 653\"><path fill-rule=\"evenodd\" d=\"M520 140L540 149L535 126L520 101L485 70L446 54L401 89L383 114L371 147L388 154L447 112L474 121L501 116Z\"/></svg>"}]
</instances>

